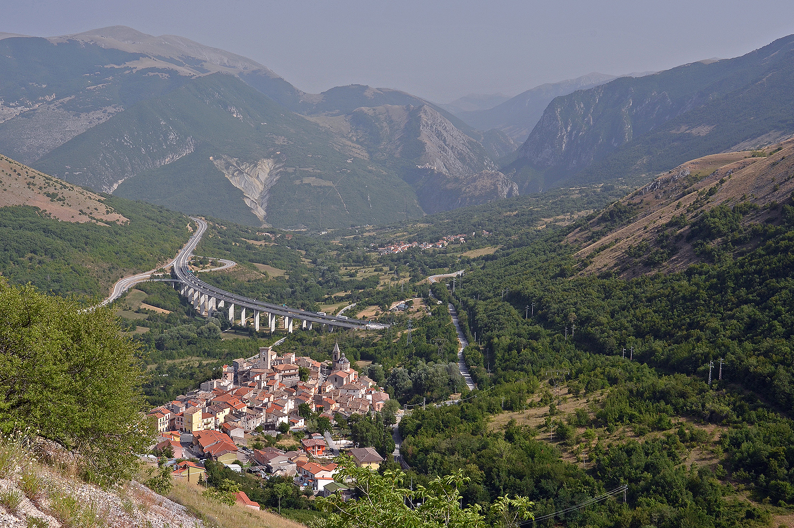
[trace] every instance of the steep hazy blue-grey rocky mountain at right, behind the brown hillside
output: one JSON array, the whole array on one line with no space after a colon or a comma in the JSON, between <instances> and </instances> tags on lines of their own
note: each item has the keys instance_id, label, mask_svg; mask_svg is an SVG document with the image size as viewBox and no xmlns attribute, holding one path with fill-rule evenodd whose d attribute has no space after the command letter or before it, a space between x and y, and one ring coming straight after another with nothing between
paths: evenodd
<instances>
[{"instance_id":1,"label":"steep hazy blue-grey rocky mountain at right, behind the brown hillside","mask_svg":"<svg viewBox=\"0 0 794 528\"><path fill-rule=\"evenodd\" d=\"M744 56L620 78L556 98L516 152L547 183L669 170L794 133L794 35Z\"/></svg>"}]
</instances>

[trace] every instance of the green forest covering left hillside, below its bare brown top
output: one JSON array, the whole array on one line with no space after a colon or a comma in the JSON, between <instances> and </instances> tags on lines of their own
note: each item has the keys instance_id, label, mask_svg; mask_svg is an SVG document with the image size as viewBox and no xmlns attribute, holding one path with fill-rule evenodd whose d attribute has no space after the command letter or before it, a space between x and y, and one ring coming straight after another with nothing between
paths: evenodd
<instances>
[{"instance_id":1,"label":"green forest covering left hillside, below its bare brown top","mask_svg":"<svg viewBox=\"0 0 794 528\"><path fill-rule=\"evenodd\" d=\"M60 222L30 206L0 207L0 273L56 295L106 296L131 272L171 259L190 236L183 214L106 198L129 223Z\"/></svg>"}]
</instances>

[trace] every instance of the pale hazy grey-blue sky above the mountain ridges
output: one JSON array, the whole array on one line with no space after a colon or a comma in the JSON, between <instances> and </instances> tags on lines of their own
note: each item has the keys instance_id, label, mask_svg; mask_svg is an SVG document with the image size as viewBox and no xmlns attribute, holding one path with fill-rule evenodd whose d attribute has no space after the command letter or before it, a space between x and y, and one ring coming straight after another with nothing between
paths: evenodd
<instances>
[{"instance_id":1,"label":"pale hazy grey-blue sky above the mountain ridges","mask_svg":"<svg viewBox=\"0 0 794 528\"><path fill-rule=\"evenodd\" d=\"M248 56L304 91L362 83L434 102L738 56L794 33L791 0L0 0L0 13L9 33L129 25Z\"/></svg>"}]
</instances>

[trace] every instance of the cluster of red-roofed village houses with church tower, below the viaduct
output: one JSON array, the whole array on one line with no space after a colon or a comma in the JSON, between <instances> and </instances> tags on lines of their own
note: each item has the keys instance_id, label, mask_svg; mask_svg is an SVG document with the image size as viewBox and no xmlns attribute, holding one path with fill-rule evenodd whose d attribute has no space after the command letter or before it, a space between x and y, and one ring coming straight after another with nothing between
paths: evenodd
<instances>
[{"instance_id":1,"label":"cluster of red-roofed village houses with church tower, below the viaduct","mask_svg":"<svg viewBox=\"0 0 794 528\"><path fill-rule=\"evenodd\" d=\"M149 411L158 432L153 451L172 459L172 476L177 479L203 480L206 469L201 461L211 459L238 472L245 465L264 478L293 477L295 485L314 495L344 494L345 485L333 480L333 457L340 454L340 445L349 448L346 452L357 465L377 468L384 457L372 447L334 442L328 430L303 434L299 449L285 451L260 442L249 447L254 435L306 431L302 409L326 418L328 424L340 416L383 410L387 392L351 368L338 344L331 356L321 363L295 353L278 356L272 347L262 347L257 356L224 365L221 378ZM257 446L260 449L253 449ZM242 492L237 501L259 507Z\"/></svg>"}]
</instances>

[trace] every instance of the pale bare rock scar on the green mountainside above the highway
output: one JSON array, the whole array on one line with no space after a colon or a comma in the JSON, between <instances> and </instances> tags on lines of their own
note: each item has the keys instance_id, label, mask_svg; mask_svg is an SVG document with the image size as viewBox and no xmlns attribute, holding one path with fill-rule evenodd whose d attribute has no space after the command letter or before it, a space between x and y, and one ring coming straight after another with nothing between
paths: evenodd
<instances>
[{"instance_id":1,"label":"pale bare rock scar on the green mountainside above the highway","mask_svg":"<svg viewBox=\"0 0 794 528\"><path fill-rule=\"evenodd\" d=\"M243 191L245 205L256 214L256 218L265 222L268 217L270 188L279 180L279 169L283 164L267 158L248 163L225 155L218 156L213 163L234 187Z\"/></svg>"}]
</instances>

